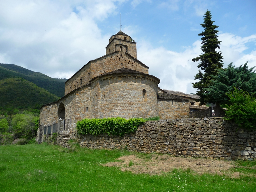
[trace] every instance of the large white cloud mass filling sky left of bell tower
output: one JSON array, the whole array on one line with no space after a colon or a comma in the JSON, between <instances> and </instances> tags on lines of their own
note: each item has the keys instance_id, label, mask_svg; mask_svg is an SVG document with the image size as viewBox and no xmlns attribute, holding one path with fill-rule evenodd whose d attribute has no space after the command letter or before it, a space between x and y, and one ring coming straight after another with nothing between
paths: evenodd
<instances>
[{"instance_id":1,"label":"large white cloud mass filling sky left of bell tower","mask_svg":"<svg viewBox=\"0 0 256 192\"><path fill-rule=\"evenodd\" d=\"M109 36L96 21L123 0L5 1L0 7L0 62L69 78L105 54Z\"/></svg>"}]
</instances>

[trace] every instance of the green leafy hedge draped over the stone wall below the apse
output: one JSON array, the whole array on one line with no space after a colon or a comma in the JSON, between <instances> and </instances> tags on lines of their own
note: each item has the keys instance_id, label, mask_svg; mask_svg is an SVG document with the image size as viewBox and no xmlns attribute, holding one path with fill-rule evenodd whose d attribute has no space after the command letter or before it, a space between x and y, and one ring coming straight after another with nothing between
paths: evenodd
<instances>
[{"instance_id":1,"label":"green leafy hedge draped over the stone wall below the apse","mask_svg":"<svg viewBox=\"0 0 256 192\"><path fill-rule=\"evenodd\" d=\"M104 118L104 119L84 119L77 122L77 132L79 134L109 134L124 136L125 134L134 133L137 128L145 123L145 119L132 118Z\"/></svg>"}]
</instances>

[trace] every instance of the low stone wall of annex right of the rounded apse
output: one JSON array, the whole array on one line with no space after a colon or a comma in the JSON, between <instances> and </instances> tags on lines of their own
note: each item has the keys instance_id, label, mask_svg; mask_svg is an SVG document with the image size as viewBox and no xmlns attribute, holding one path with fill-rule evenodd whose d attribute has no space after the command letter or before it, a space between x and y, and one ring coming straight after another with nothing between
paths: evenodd
<instances>
[{"instance_id":1,"label":"low stone wall of annex right of the rounded apse","mask_svg":"<svg viewBox=\"0 0 256 192\"><path fill-rule=\"evenodd\" d=\"M187 118L188 100L158 99L159 117L161 119Z\"/></svg>"}]
</instances>

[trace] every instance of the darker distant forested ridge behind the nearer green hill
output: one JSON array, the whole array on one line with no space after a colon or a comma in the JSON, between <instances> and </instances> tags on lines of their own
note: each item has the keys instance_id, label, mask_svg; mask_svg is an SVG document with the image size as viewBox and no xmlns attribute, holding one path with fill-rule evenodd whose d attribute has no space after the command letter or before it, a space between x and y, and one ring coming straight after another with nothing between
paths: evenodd
<instances>
[{"instance_id":1,"label":"darker distant forested ridge behind the nearer green hill","mask_svg":"<svg viewBox=\"0 0 256 192\"><path fill-rule=\"evenodd\" d=\"M11 77L22 77L30 82L33 82L38 87L48 90L50 93L53 93L58 97L64 96L64 82L67 79L51 78L45 74L34 72L17 65L0 63L0 80Z\"/></svg>"}]
</instances>

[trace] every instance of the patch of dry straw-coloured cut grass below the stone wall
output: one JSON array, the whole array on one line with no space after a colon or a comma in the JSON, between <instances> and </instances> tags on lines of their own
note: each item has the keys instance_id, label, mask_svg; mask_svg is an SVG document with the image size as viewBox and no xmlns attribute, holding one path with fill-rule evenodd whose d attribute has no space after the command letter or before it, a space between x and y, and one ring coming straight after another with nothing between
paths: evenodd
<instances>
[{"instance_id":1,"label":"patch of dry straw-coloured cut grass below the stone wall","mask_svg":"<svg viewBox=\"0 0 256 192\"><path fill-rule=\"evenodd\" d=\"M176 169L194 172L200 175L204 173L223 175L225 172L226 175L230 175L230 177L233 178L237 178L242 174L238 172L227 174L229 169L236 167L231 165L231 162L227 161L205 158L183 158L157 154L145 157L136 157L135 155L122 156L118 158L118 162L106 163L104 166L117 166L120 167L122 171L129 170L135 174L147 173L150 175L160 175ZM132 166L131 162L133 163Z\"/></svg>"}]
</instances>

